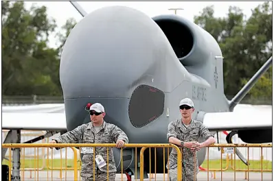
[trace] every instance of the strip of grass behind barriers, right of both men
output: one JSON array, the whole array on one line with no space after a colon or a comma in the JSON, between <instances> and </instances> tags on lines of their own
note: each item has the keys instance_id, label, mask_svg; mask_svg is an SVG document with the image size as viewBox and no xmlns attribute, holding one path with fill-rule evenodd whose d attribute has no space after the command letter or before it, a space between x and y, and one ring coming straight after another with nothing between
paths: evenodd
<instances>
[{"instance_id":1,"label":"strip of grass behind barriers, right of both men","mask_svg":"<svg viewBox=\"0 0 274 181\"><path fill-rule=\"evenodd\" d=\"M207 160L203 162L201 165L204 169L207 169ZM227 160L222 160L222 169L225 169L227 167ZM227 171L234 171L231 167L236 167L236 169L248 169L247 165L245 165L241 160L236 160L235 166L234 162L231 163L231 160L229 160L229 167ZM220 169L221 163L220 160L209 160L209 169ZM263 169L263 170L271 170L272 171L272 162L269 160L263 160L262 163L260 160L249 160L249 170L253 169Z\"/></svg>"}]
</instances>

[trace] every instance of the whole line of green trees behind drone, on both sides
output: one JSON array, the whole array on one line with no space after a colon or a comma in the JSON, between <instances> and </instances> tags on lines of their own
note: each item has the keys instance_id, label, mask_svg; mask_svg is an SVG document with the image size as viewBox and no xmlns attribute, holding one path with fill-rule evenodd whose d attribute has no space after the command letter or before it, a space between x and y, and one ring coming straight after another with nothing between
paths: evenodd
<instances>
[{"instance_id":1,"label":"whole line of green trees behind drone, on both sides","mask_svg":"<svg viewBox=\"0 0 274 181\"><path fill-rule=\"evenodd\" d=\"M48 46L56 21L45 6L25 8L23 1L2 1L2 95L62 95L59 63L76 20L62 26L56 49ZM236 95L262 64L272 56L272 6L262 2L246 18L236 6L227 16L214 16L214 6L204 8L194 23L216 39L224 57L225 95ZM272 66L247 95L272 101Z\"/></svg>"}]
</instances>

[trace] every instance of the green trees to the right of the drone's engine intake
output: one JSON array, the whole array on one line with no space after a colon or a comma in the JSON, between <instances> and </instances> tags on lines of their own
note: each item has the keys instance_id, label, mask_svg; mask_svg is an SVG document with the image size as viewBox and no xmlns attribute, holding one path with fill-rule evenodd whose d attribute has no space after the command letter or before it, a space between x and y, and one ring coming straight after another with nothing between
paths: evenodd
<instances>
[{"instance_id":1,"label":"green trees to the right of the drone's engine intake","mask_svg":"<svg viewBox=\"0 0 274 181\"><path fill-rule=\"evenodd\" d=\"M194 16L194 22L212 34L220 45L225 57L226 95L236 95L272 55L272 9L269 2L254 8L247 20L244 20L242 10L235 6L229 7L224 18L214 17L214 6L209 6ZM257 93L260 88L268 91L264 95L272 99L272 73L264 75L247 96L262 96Z\"/></svg>"}]
</instances>

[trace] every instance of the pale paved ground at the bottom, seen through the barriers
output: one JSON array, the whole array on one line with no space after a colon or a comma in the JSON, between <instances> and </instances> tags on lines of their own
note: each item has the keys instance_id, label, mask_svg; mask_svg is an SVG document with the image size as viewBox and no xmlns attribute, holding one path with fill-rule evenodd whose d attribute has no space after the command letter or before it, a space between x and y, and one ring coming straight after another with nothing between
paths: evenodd
<instances>
[{"instance_id":1,"label":"pale paved ground at the bottom, seen through the barriers","mask_svg":"<svg viewBox=\"0 0 274 181\"><path fill-rule=\"evenodd\" d=\"M209 180L221 180L220 172L216 173L216 178L212 178L212 173L209 172ZM34 173L32 171L32 176L30 176L30 171L25 171L25 179L24 180L36 180L36 181L46 181L46 180L62 180L62 181L72 181L73 179L73 171L67 171L67 176L65 171L62 172L62 178L60 178L60 171L39 171L39 173ZM236 179L235 180L245 180L245 175L244 172L236 172ZM80 180L80 174L78 173L78 179ZM116 175L115 180L122 180L121 174ZM126 175L124 175L123 180L126 181ZM133 176L133 180L135 180ZM156 178L152 177L151 179L147 178L144 180L168 180L168 175L165 174L165 179L163 179L163 174L157 174ZM222 172L222 180L225 181L232 181L234 180L234 173L233 172ZM264 180L264 181L270 181L272 180L272 173L249 173L249 180L252 181L259 181L259 180ZM23 178L21 178L21 181L23 181ZM200 172L198 173L198 181L207 181L207 172Z\"/></svg>"}]
</instances>

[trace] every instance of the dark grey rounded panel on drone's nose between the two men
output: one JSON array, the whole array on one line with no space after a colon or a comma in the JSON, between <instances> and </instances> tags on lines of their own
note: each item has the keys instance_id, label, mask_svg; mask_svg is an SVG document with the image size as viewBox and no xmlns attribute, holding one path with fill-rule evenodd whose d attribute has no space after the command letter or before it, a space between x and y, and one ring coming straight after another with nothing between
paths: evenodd
<instances>
[{"instance_id":1,"label":"dark grey rounded panel on drone's nose between the two men","mask_svg":"<svg viewBox=\"0 0 274 181\"><path fill-rule=\"evenodd\" d=\"M140 85L130 97L128 115L130 122L141 128L163 114L165 94L152 86Z\"/></svg>"}]
</instances>

